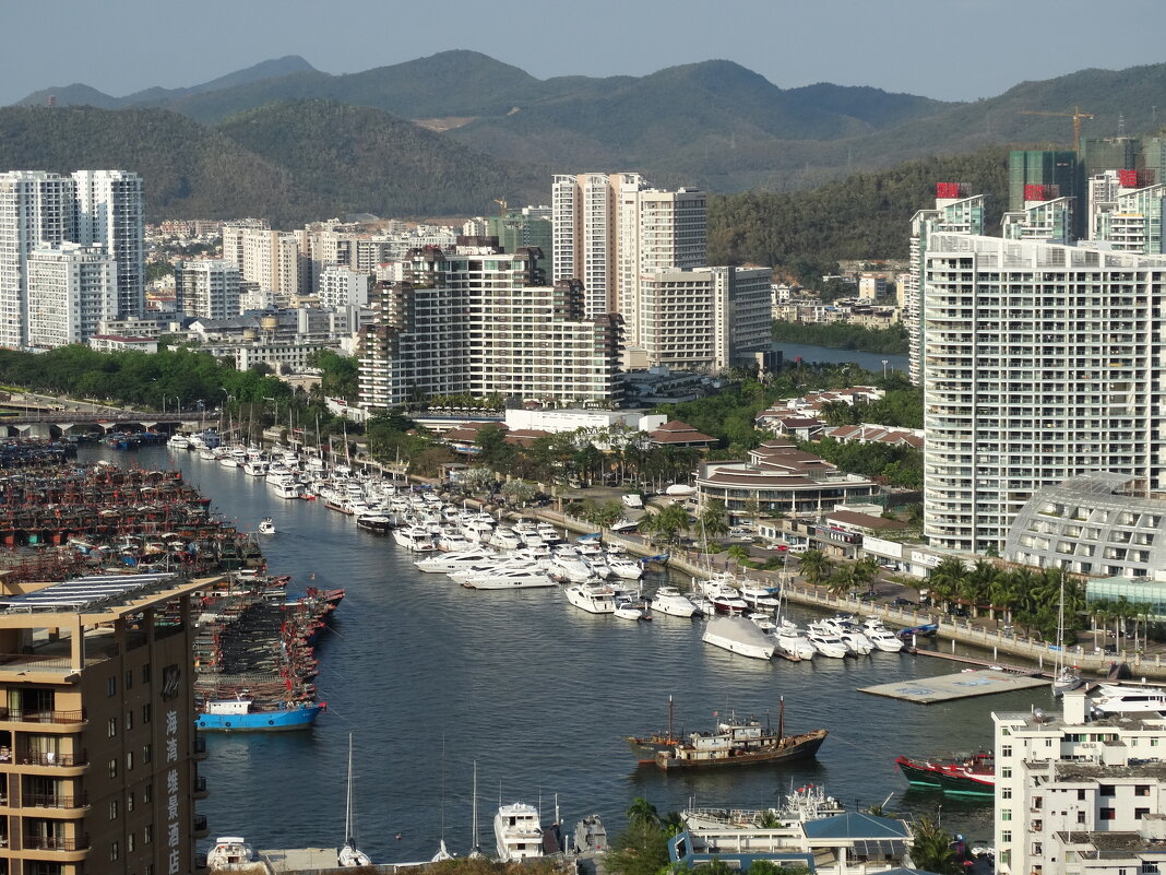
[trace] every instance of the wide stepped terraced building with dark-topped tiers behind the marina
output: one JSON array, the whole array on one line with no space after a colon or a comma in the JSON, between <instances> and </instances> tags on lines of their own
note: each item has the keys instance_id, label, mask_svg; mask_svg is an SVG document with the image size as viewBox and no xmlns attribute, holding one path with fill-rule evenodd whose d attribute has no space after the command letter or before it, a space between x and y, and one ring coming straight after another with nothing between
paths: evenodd
<instances>
[{"instance_id":1,"label":"wide stepped terraced building with dark-topped tiers behind the marina","mask_svg":"<svg viewBox=\"0 0 1166 875\"><path fill-rule=\"evenodd\" d=\"M545 284L535 253L480 240L414 250L380 281L361 329L360 401L469 392L552 404L618 398L618 318L586 317L577 281Z\"/></svg>"}]
</instances>

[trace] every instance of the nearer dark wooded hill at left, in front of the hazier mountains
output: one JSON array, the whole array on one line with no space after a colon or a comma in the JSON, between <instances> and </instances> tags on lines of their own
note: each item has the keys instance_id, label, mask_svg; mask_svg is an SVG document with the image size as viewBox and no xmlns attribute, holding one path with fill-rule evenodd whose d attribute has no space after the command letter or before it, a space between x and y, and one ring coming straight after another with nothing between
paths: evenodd
<instances>
[{"instance_id":1,"label":"nearer dark wooded hill at left, in front of the hazier mountains","mask_svg":"<svg viewBox=\"0 0 1166 875\"><path fill-rule=\"evenodd\" d=\"M546 200L548 168L486 155L381 110L272 104L209 127L164 110L0 108L0 169L141 174L148 218L472 216Z\"/></svg>"}]
</instances>

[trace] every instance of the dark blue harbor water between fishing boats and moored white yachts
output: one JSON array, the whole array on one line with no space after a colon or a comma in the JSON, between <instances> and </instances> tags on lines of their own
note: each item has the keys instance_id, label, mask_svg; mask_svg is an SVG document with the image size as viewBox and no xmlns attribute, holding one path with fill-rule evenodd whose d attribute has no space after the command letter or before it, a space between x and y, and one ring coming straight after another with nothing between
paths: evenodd
<instances>
[{"instance_id":1,"label":"dark blue harbor water between fishing boats and moored white yachts","mask_svg":"<svg viewBox=\"0 0 1166 875\"><path fill-rule=\"evenodd\" d=\"M265 848L339 845L351 732L357 835L378 862L428 859L443 835L459 854L470 849L475 763L487 853L499 800L541 804L549 822L557 798L568 826L598 812L614 834L637 796L661 812L694 802L768 806L809 783L848 807L891 794L888 811L934 814L942 805L944 825L989 838L990 800L906 792L894 757L990 746L992 709L1052 705L1045 690L929 707L868 695L856 688L957 668L879 652L761 663L703 644L698 621L592 616L559 588L463 589L417 572L392 538L360 531L319 502L279 499L241 469L164 447L82 452L83 461L96 456L177 467L244 530L272 517L276 533L260 537L273 573L295 575L298 588L346 590L317 650L328 710L316 726L206 737L199 771L210 797L198 810L212 836L243 835ZM682 775L637 766L623 737L666 728L669 695L677 729L708 729L731 713L775 723L785 696L788 732L821 727L830 736L803 763Z\"/></svg>"}]
</instances>

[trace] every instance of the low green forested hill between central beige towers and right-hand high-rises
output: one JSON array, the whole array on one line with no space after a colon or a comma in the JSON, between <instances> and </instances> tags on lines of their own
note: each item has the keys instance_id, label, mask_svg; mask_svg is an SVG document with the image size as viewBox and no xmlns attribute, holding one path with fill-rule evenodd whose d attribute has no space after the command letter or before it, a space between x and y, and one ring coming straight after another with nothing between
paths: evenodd
<instances>
[{"instance_id":1,"label":"low green forested hill between central beige towers and right-hand high-rises","mask_svg":"<svg viewBox=\"0 0 1166 875\"><path fill-rule=\"evenodd\" d=\"M985 195L998 226L1007 209L1007 158L1005 147L993 147L862 173L814 191L712 197L709 262L781 267L803 278L834 273L840 259L906 258L911 217L934 206L936 182L965 182L971 194Z\"/></svg>"}]
</instances>

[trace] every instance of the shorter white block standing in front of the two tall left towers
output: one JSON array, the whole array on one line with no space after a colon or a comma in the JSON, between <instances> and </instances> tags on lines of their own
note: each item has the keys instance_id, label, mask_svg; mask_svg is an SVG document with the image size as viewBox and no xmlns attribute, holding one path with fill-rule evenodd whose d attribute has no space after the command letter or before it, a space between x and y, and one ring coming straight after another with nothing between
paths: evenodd
<instances>
[{"instance_id":1,"label":"shorter white block standing in front of the two tall left towers","mask_svg":"<svg viewBox=\"0 0 1166 875\"><path fill-rule=\"evenodd\" d=\"M86 343L113 318L118 264L104 246L42 245L28 254L28 345Z\"/></svg>"}]
</instances>

